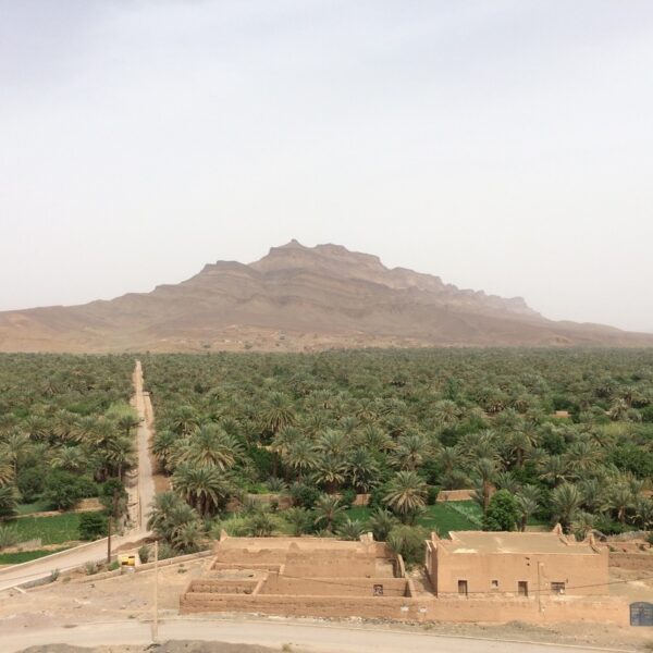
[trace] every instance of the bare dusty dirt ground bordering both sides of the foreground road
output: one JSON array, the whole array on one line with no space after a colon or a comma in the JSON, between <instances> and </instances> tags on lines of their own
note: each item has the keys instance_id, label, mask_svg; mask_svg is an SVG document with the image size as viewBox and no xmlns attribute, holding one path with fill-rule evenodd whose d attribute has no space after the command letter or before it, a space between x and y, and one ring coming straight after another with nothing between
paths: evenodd
<instances>
[{"instance_id":1,"label":"bare dusty dirt ground bordering both sides of the foreground road","mask_svg":"<svg viewBox=\"0 0 653 653\"><path fill-rule=\"evenodd\" d=\"M190 578L202 574L205 560L193 560L181 565L165 567L159 571L159 607L160 617L163 619L175 618L178 614L178 597ZM615 570L616 577L626 579L631 571ZM77 579L84 578L78 572ZM56 627L74 627L76 625L113 621L124 619L149 620L151 618L153 572L144 571L116 576L104 580L89 582L65 581L60 579L54 583L35 588L22 593L17 590L4 591L0 594L0 633L28 632L36 629ZM616 586L619 592L628 593L633 600L653 596L653 583L645 586L636 584ZM217 620L256 620L261 617L247 615L207 615ZM279 620L279 619L275 619ZM287 619L288 623L324 624L329 619ZM350 627L370 626L370 621L362 619L343 619L341 625ZM490 639L530 640L537 642L554 642L556 644L575 644L581 646L605 646L620 650L645 650L644 646L653 642L653 628L618 628L611 625L556 625L531 626L526 624L484 625L484 624L429 624L422 626L397 625L386 621L374 621L374 629L393 628L406 631L426 629L429 632L451 636L479 637ZM176 646L178 643L174 643ZM168 644L172 646L173 644ZM178 644L181 645L181 644ZM185 644L184 644L185 645ZM189 645L189 644L188 644ZM201 644L205 645L205 644ZM37 651L38 649L34 649ZM114 653L132 653L143 649L110 649ZM229 653L255 653L262 649L242 648L215 649ZM53 648L41 649L48 653L57 651ZM72 653L73 649L62 649ZM164 649L157 651L176 653L177 651L199 653L213 651L213 649ZM104 650L102 650L104 653ZM106 649L109 653L109 649Z\"/></svg>"}]
</instances>

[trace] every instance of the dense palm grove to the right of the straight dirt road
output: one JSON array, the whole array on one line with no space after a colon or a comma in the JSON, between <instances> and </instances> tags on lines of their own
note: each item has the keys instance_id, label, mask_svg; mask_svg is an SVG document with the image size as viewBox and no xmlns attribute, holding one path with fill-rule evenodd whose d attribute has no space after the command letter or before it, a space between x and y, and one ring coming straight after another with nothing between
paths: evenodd
<instances>
[{"instance_id":1,"label":"dense palm grove to the right of the straight dirt road","mask_svg":"<svg viewBox=\"0 0 653 653\"><path fill-rule=\"evenodd\" d=\"M650 350L143 360L155 455L172 486L150 523L171 551L222 529L346 539L371 529L410 558L428 504L458 488L475 489L491 530L559 521L581 538L653 523ZM256 501L261 493L275 498ZM358 493L371 494L370 509L352 518Z\"/></svg>"}]
</instances>

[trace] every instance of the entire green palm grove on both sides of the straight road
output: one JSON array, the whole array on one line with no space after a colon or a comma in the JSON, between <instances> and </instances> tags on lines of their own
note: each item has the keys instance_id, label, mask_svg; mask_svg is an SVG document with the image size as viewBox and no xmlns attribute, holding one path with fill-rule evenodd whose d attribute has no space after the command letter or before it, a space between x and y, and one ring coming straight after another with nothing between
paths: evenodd
<instances>
[{"instance_id":1,"label":"entire green palm grove on both sides of the straight road","mask_svg":"<svg viewBox=\"0 0 653 653\"><path fill-rule=\"evenodd\" d=\"M155 455L174 488L151 523L171 555L222 528L346 539L371 528L409 551L421 529L653 526L650 349L141 360ZM134 463L132 369L121 356L0 356L0 515L91 492L113 512L104 482ZM435 503L463 488L473 502ZM266 493L276 497L248 498ZM369 508L352 507L357 493L371 494Z\"/></svg>"}]
</instances>

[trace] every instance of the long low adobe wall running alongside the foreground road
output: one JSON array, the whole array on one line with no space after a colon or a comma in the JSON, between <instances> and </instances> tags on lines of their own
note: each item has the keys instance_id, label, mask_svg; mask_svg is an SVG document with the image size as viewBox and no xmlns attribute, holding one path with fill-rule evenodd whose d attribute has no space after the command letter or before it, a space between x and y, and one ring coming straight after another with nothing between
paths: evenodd
<instances>
[{"instance_id":1,"label":"long low adobe wall running alongside the foreground road","mask_svg":"<svg viewBox=\"0 0 653 653\"><path fill-rule=\"evenodd\" d=\"M581 597L465 600L394 596L280 596L220 595L188 592L182 596L181 614L202 612L246 612L294 617L364 617L404 621L528 621L629 624L628 604L618 599L590 600Z\"/></svg>"}]
</instances>

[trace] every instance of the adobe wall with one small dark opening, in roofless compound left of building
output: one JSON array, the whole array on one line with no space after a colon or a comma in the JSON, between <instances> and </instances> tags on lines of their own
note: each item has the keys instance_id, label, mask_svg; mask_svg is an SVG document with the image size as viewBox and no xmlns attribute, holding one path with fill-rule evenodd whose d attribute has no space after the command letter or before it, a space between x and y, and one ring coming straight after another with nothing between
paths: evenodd
<instances>
[{"instance_id":1,"label":"adobe wall with one small dark opening, in roofless compound left of building","mask_svg":"<svg viewBox=\"0 0 653 653\"><path fill-rule=\"evenodd\" d=\"M285 594L312 596L367 596L374 597L374 586L383 588L383 596L405 596L407 583L403 578L288 578L270 574L263 581L259 595Z\"/></svg>"}]
</instances>

